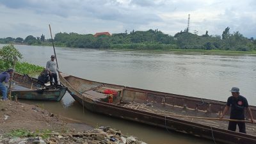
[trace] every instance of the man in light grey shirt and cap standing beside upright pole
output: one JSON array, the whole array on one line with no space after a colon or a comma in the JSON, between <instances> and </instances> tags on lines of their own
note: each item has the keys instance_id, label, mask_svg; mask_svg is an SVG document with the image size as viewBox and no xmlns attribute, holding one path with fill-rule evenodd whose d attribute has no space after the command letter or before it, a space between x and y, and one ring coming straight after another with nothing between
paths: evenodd
<instances>
[{"instance_id":1,"label":"man in light grey shirt and cap standing beside upright pole","mask_svg":"<svg viewBox=\"0 0 256 144\"><path fill-rule=\"evenodd\" d=\"M54 84L57 85L58 84L58 79L57 79L57 72L59 71L57 68L57 63L55 60L55 55L51 56L51 60L47 61L46 63L46 69L49 72L49 77L50 77L50 83L52 86L52 78L54 79Z\"/></svg>"}]
</instances>

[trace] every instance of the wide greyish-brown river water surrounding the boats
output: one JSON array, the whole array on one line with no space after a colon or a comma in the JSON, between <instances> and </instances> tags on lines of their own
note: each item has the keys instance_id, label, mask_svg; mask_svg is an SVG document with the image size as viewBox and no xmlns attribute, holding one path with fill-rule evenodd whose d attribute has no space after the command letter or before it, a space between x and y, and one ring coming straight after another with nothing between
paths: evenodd
<instances>
[{"instance_id":1,"label":"wide greyish-brown river water surrounding the boats","mask_svg":"<svg viewBox=\"0 0 256 144\"><path fill-rule=\"evenodd\" d=\"M2 47L3 45L0 45ZM45 67L52 47L15 45L22 61ZM84 79L159 92L226 101L232 86L240 88L250 105L256 105L256 56L252 54L202 54L200 52L100 51L56 47L62 72ZM147 143L214 143L187 134L102 116L83 108L66 93L61 102L31 102L52 113L99 127L110 125Z\"/></svg>"}]
</instances>

